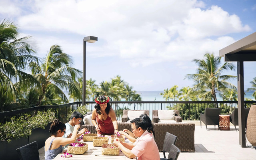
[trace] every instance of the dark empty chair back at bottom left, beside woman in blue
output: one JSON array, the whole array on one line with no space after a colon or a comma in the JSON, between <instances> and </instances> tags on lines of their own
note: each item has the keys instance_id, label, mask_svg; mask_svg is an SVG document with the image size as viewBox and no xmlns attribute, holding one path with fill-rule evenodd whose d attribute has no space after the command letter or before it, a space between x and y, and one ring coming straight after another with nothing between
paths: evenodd
<instances>
[{"instance_id":1,"label":"dark empty chair back at bottom left, beside woman in blue","mask_svg":"<svg viewBox=\"0 0 256 160\"><path fill-rule=\"evenodd\" d=\"M39 160L37 141L16 149L20 160Z\"/></svg>"}]
</instances>

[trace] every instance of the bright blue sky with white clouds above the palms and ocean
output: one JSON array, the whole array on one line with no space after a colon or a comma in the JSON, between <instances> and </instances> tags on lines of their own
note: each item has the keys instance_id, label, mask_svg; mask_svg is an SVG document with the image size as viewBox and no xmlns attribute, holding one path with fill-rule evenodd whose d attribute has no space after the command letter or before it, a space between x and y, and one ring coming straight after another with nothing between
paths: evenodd
<instances>
[{"instance_id":1,"label":"bright blue sky with white clouds above the palms and ocean","mask_svg":"<svg viewBox=\"0 0 256 160\"><path fill-rule=\"evenodd\" d=\"M87 43L86 79L99 84L119 75L134 90L164 90L192 86L184 77L196 72L193 59L218 56L256 32L256 1L5 0L0 18L33 36L39 57L58 44L80 70L83 38L97 36L98 42ZM256 77L255 66L244 62L245 88Z\"/></svg>"}]
</instances>

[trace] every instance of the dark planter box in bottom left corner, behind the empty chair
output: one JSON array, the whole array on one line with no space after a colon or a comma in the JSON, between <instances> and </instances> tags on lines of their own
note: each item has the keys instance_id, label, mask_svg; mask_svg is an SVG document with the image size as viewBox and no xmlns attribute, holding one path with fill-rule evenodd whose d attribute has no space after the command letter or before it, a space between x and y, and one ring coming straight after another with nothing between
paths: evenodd
<instances>
[{"instance_id":1,"label":"dark planter box in bottom left corner, behind the empty chair","mask_svg":"<svg viewBox=\"0 0 256 160\"><path fill-rule=\"evenodd\" d=\"M20 158L16 149L25 146L26 144L28 144L28 137L12 139L10 143L1 141L0 151L2 153L2 158L5 160L19 160Z\"/></svg>"}]
</instances>

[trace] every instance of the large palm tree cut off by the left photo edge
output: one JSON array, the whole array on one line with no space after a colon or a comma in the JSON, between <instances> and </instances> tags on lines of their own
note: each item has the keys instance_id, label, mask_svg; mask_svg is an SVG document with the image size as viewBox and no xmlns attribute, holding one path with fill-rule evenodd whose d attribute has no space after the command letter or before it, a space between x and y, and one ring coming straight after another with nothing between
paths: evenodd
<instances>
[{"instance_id":1,"label":"large palm tree cut off by the left photo edge","mask_svg":"<svg viewBox=\"0 0 256 160\"><path fill-rule=\"evenodd\" d=\"M24 72L30 62L38 61L31 38L20 38L18 27L13 22L0 21L0 110L3 110L4 99L15 100L19 91L15 82L24 80L25 86L35 84L34 77Z\"/></svg>"}]
</instances>

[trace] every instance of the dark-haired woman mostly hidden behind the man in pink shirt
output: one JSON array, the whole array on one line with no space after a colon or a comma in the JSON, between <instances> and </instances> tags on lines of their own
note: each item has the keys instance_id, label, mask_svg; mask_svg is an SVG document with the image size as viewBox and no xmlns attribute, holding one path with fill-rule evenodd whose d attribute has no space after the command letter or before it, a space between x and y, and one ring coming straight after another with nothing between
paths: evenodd
<instances>
[{"instance_id":1,"label":"dark-haired woman mostly hidden behind the man in pink shirt","mask_svg":"<svg viewBox=\"0 0 256 160\"><path fill-rule=\"evenodd\" d=\"M153 134L153 137L155 137L154 125L151 122L149 116L147 114L141 114L140 118L142 118L143 120L146 121L146 124L148 126L147 131L149 133ZM126 138L128 140L130 140L130 142L132 142L132 143L134 143L136 141L136 138L138 138L138 137L134 136L134 134L128 129L124 129L124 130L119 131L119 134L122 134L122 135L126 136Z\"/></svg>"}]
</instances>

